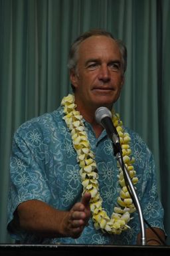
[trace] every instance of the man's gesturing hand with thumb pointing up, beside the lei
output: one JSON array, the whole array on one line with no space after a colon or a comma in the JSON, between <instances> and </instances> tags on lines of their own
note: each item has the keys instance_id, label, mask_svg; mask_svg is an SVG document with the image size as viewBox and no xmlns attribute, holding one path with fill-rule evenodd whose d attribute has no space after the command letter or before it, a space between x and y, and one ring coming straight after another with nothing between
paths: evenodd
<instances>
[{"instance_id":1,"label":"man's gesturing hand with thumb pointing up, beside the lei","mask_svg":"<svg viewBox=\"0 0 170 256\"><path fill-rule=\"evenodd\" d=\"M64 217L64 233L68 237L80 237L90 219L90 193L84 193L80 202L75 203Z\"/></svg>"}]
</instances>

